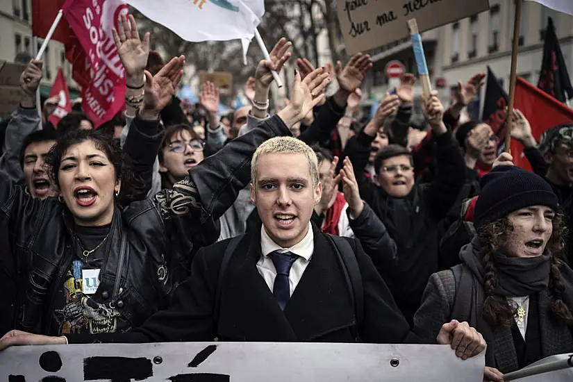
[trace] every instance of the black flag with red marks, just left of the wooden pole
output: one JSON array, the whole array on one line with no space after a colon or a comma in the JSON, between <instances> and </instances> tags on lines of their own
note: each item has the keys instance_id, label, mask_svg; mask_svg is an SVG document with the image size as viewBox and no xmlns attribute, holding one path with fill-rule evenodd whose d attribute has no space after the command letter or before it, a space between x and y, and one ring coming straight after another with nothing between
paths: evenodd
<instances>
[{"instance_id":1,"label":"black flag with red marks, just left of the wooden pole","mask_svg":"<svg viewBox=\"0 0 573 382\"><path fill-rule=\"evenodd\" d=\"M497 77L488 66L488 83L485 87L481 119L491 126L493 132L499 138L499 142L504 141L507 103L508 96L504 88L501 88Z\"/></svg>"}]
</instances>

